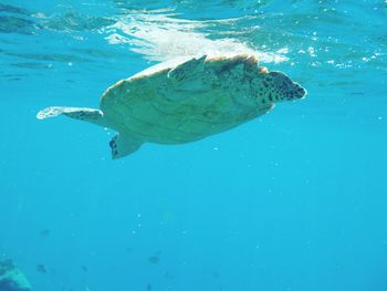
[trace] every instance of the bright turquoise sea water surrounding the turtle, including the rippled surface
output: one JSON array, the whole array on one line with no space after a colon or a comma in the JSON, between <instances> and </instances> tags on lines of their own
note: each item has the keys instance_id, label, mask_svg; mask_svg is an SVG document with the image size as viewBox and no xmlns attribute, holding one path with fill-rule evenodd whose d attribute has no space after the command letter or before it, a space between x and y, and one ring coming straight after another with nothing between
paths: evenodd
<instances>
[{"instance_id":1,"label":"bright turquoise sea water surrounding the turtle, including the rippled surface","mask_svg":"<svg viewBox=\"0 0 387 291\"><path fill-rule=\"evenodd\" d=\"M386 25L370 0L2 0L0 260L40 291L387 290ZM35 118L228 51L307 97L118 160L112 132Z\"/></svg>"}]
</instances>

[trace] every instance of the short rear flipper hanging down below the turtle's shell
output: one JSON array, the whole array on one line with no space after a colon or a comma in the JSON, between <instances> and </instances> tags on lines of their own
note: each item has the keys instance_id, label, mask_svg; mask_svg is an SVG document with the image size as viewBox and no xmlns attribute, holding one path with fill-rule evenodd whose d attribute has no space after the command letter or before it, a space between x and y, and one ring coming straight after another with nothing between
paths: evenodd
<instances>
[{"instance_id":1,"label":"short rear flipper hanging down below the turtle's shell","mask_svg":"<svg viewBox=\"0 0 387 291\"><path fill-rule=\"evenodd\" d=\"M113 159L130 155L132 153L136 152L142 146L142 141L122 134L116 134L108 143L112 148Z\"/></svg>"}]
</instances>

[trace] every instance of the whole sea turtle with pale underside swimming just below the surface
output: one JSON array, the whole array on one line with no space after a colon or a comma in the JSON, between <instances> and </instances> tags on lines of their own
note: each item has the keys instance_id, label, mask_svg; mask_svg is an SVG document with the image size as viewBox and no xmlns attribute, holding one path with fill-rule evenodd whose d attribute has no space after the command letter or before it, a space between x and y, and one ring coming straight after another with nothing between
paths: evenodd
<instances>
[{"instance_id":1,"label":"whole sea turtle with pale underside swimming just below the surface","mask_svg":"<svg viewBox=\"0 0 387 291\"><path fill-rule=\"evenodd\" d=\"M53 106L38 113L81 119L117 132L112 158L143 143L182 144L228 131L306 91L252 55L200 56L151 66L108 87L101 110Z\"/></svg>"}]
</instances>

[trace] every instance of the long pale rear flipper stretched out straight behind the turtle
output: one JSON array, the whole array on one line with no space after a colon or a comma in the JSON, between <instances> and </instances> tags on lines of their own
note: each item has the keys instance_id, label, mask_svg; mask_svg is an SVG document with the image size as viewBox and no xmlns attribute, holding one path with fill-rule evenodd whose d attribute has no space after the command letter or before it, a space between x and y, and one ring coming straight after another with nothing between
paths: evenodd
<instances>
[{"instance_id":1,"label":"long pale rear flipper stretched out straight behind the turtle","mask_svg":"<svg viewBox=\"0 0 387 291\"><path fill-rule=\"evenodd\" d=\"M64 106L52 106L41 110L36 118L45 119L49 117L55 117L59 115L65 115L74 119L94 123L100 126L107 126L104 122L104 114L100 110L93 108L81 108L81 107L64 107Z\"/></svg>"}]
</instances>

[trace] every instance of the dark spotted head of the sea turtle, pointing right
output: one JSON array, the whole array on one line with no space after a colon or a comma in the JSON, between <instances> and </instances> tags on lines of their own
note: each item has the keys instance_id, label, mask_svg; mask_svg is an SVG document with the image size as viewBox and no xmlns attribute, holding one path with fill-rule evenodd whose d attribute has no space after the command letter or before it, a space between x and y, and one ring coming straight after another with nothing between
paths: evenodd
<instances>
[{"instance_id":1,"label":"dark spotted head of the sea turtle, pointing right","mask_svg":"<svg viewBox=\"0 0 387 291\"><path fill-rule=\"evenodd\" d=\"M264 73L262 82L270 102L295 101L306 95L305 89L281 72Z\"/></svg>"}]
</instances>

